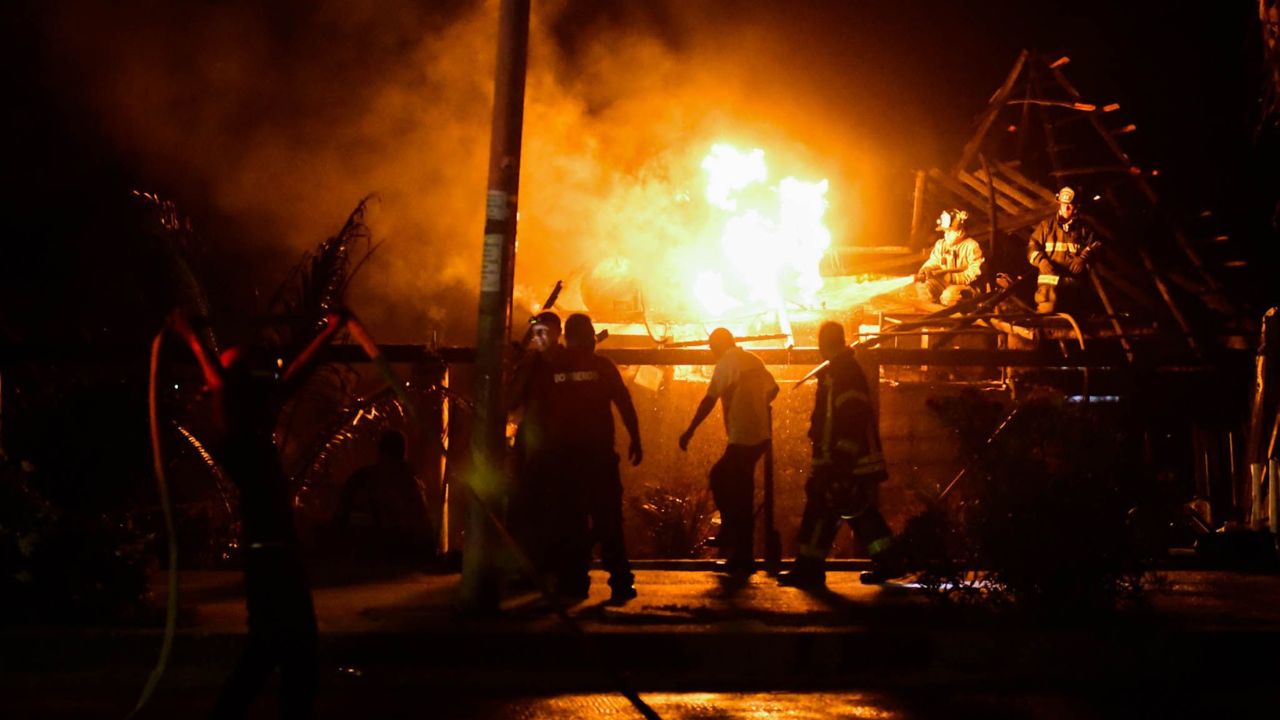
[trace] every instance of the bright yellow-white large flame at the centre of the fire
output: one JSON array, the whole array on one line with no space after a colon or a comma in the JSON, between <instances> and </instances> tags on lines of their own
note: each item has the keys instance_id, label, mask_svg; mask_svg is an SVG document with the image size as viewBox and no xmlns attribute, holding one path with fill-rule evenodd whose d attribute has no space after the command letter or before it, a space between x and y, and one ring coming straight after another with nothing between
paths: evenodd
<instances>
[{"instance_id":1,"label":"bright yellow-white large flame at the centre of the fire","mask_svg":"<svg viewBox=\"0 0 1280 720\"><path fill-rule=\"evenodd\" d=\"M694 297L708 319L776 311L786 324L788 304L812 305L822 290L818 265L831 246L827 181L769 184L763 150L727 143L714 145L701 168L719 269L691 278Z\"/></svg>"}]
</instances>

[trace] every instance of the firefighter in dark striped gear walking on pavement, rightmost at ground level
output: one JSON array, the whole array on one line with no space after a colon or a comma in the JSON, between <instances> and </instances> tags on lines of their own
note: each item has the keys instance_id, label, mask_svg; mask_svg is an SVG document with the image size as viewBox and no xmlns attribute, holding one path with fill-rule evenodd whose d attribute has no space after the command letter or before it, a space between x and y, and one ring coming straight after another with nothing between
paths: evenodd
<instances>
[{"instance_id":1,"label":"firefighter in dark striped gear walking on pavement, rightmost at ground level","mask_svg":"<svg viewBox=\"0 0 1280 720\"><path fill-rule=\"evenodd\" d=\"M861 574L861 582L883 583L901 571L892 533L879 511L879 484L888 474L867 375L845 345L845 328L838 323L823 323L818 350L828 365L818 375L809 423L813 470L804 488L795 569L778 575L778 583L823 587L823 565L841 520L870 553L873 568Z\"/></svg>"}]
</instances>

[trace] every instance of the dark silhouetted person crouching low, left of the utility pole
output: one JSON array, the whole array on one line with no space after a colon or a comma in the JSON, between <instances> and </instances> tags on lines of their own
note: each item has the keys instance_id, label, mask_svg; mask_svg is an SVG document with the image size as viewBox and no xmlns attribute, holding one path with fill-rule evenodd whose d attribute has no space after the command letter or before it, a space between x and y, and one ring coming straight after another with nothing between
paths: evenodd
<instances>
[{"instance_id":1,"label":"dark silhouetted person crouching low, left of the utility pole","mask_svg":"<svg viewBox=\"0 0 1280 720\"><path fill-rule=\"evenodd\" d=\"M399 430L384 432L378 460L352 473L343 486L334 520L379 560L420 562L434 555L435 539L422 488L404 450Z\"/></svg>"}]
</instances>

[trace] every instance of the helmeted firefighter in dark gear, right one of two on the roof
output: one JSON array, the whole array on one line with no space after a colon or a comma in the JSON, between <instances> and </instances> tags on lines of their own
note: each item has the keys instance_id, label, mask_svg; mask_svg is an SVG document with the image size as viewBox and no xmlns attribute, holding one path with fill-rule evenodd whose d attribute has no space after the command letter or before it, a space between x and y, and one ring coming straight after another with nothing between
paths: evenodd
<instances>
[{"instance_id":1,"label":"helmeted firefighter in dark gear, right one of two on the roof","mask_svg":"<svg viewBox=\"0 0 1280 720\"><path fill-rule=\"evenodd\" d=\"M1080 218L1076 191L1057 191L1057 214L1036 225L1027 243L1027 260L1039 269L1036 311L1075 313L1085 297L1084 283L1101 242Z\"/></svg>"}]
</instances>

